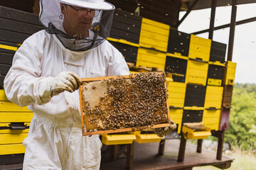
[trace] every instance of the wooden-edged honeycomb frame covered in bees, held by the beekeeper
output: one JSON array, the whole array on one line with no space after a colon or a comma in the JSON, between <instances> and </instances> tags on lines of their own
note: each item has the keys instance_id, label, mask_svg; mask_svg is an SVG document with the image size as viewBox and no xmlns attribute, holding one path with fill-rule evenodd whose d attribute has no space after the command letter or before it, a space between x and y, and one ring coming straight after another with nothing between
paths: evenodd
<instances>
[{"instance_id":1,"label":"wooden-edged honeycomb frame covered in bees, held by the beekeeper","mask_svg":"<svg viewBox=\"0 0 256 170\"><path fill-rule=\"evenodd\" d=\"M171 126L164 72L85 78L79 93L82 135Z\"/></svg>"}]
</instances>

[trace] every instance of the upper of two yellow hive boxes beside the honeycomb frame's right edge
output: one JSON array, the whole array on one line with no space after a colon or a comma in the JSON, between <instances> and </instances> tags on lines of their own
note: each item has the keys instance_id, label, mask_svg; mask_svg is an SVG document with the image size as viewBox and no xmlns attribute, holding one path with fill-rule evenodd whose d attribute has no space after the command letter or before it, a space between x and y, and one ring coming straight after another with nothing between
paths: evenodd
<instances>
[{"instance_id":1,"label":"upper of two yellow hive boxes beside the honeycomb frame's right edge","mask_svg":"<svg viewBox=\"0 0 256 170\"><path fill-rule=\"evenodd\" d=\"M174 81L167 81L167 91L169 94L169 106L183 107L186 95L186 84Z\"/></svg>"}]
</instances>

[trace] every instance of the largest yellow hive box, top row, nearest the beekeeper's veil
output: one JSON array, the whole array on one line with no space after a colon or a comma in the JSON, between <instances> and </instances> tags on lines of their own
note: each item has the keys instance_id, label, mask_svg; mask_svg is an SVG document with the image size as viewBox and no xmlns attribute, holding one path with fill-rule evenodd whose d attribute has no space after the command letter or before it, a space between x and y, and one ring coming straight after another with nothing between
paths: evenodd
<instances>
[{"instance_id":1,"label":"largest yellow hive box, top row, nearest the beekeeper's veil","mask_svg":"<svg viewBox=\"0 0 256 170\"><path fill-rule=\"evenodd\" d=\"M166 52L170 26L146 18L142 18L139 45Z\"/></svg>"}]
</instances>

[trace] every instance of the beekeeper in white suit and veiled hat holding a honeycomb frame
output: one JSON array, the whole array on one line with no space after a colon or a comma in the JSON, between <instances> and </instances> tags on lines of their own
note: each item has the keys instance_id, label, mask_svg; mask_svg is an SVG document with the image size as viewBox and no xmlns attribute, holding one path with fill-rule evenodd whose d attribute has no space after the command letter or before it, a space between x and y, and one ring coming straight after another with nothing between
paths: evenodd
<instances>
[{"instance_id":1,"label":"beekeeper in white suit and veiled hat holding a honeycomb frame","mask_svg":"<svg viewBox=\"0 0 256 170\"><path fill-rule=\"evenodd\" d=\"M122 54L106 40L114 6L103 0L40 5L46 29L18 48L4 80L7 98L34 113L23 141L23 169L100 169L102 143L98 135L82 136L77 89L80 77L129 74Z\"/></svg>"}]
</instances>

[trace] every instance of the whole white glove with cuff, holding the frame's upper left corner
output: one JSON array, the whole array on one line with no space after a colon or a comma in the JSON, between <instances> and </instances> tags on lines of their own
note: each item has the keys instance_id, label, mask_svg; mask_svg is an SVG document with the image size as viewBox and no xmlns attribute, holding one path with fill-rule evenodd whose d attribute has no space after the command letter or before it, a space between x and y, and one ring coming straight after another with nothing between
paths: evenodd
<instances>
[{"instance_id":1,"label":"whole white glove with cuff, holding the frame's upper left corner","mask_svg":"<svg viewBox=\"0 0 256 170\"><path fill-rule=\"evenodd\" d=\"M48 77L46 79L46 88L41 86L39 95L41 101L38 104L48 103L50 98L57 96L63 91L72 93L82 84L82 79L75 72L60 72L57 77Z\"/></svg>"}]
</instances>

